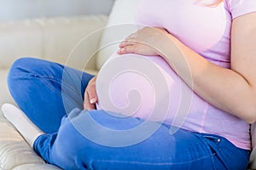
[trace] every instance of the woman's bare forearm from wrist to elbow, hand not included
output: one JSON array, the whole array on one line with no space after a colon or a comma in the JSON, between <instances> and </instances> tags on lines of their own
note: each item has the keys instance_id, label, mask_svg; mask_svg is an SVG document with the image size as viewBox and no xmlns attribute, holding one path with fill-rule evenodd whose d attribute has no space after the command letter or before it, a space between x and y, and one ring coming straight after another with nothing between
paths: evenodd
<instances>
[{"instance_id":1,"label":"woman's bare forearm from wrist to elbow, hand not included","mask_svg":"<svg viewBox=\"0 0 256 170\"><path fill-rule=\"evenodd\" d=\"M176 38L168 38L161 39L160 55L196 94L221 110L253 122L256 95L244 77L212 64Z\"/></svg>"}]
</instances>

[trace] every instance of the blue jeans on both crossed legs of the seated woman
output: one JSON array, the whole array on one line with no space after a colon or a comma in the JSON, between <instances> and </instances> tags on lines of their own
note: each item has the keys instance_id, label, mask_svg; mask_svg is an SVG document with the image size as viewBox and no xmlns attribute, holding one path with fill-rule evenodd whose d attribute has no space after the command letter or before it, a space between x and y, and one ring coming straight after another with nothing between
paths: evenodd
<instances>
[{"instance_id":1,"label":"blue jeans on both crossed legs of the seated woman","mask_svg":"<svg viewBox=\"0 0 256 170\"><path fill-rule=\"evenodd\" d=\"M166 124L159 124L147 139L114 145L139 139L157 122L148 122L144 131L127 133L144 121L113 116L106 111L83 111L84 89L91 77L82 71L32 58L16 60L9 71L10 93L20 109L46 133L33 145L45 161L67 170L247 168L249 150L237 148L214 134L184 129L170 134ZM113 135L115 132L126 135Z\"/></svg>"}]
</instances>

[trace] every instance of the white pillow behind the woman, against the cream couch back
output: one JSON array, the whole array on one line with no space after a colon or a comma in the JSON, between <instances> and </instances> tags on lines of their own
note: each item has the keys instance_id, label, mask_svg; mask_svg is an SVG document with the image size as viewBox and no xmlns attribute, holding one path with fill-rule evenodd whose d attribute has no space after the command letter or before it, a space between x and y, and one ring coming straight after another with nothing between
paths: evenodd
<instances>
[{"instance_id":1,"label":"white pillow behind the woman, against the cream couch back","mask_svg":"<svg viewBox=\"0 0 256 170\"><path fill-rule=\"evenodd\" d=\"M108 57L117 49L119 42L137 31L135 16L141 0L116 0L109 14L108 24L102 32L96 68L99 70Z\"/></svg>"}]
</instances>

